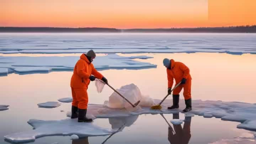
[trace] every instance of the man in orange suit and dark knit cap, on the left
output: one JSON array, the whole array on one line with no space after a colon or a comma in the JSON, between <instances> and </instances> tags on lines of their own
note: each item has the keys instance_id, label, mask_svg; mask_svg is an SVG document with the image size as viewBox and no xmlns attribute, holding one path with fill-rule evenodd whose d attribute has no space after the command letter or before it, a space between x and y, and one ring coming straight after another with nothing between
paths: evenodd
<instances>
[{"instance_id":1,"label":"man in orange suit and dark knit cap, on the left","mask_svg":"<svg viewBox=\"0 0 256 144\"><path fill-rule=\"evenodd\" d=\"M87 89L90 81L98 78L107 84L107 79L92 64L95 57L96 54L93 50L82 54L74 67L74 73L71 78L70 86L73 97L71 118L78 118L78 122L92 122L92 119L86 117L88 104Z\"/></svg>"}]
</instances>

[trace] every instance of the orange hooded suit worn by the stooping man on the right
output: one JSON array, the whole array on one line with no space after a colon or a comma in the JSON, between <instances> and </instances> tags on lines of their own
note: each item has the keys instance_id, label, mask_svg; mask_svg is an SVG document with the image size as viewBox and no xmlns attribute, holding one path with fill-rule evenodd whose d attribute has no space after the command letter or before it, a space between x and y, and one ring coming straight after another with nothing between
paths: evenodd
<instances>
[{"instance_id":1,"label":"orange hooded suit worn by the stooping man on the right","mask_svg":"<svg viewBox=\"0 0 256 144\"><path fill-rule=\"evenodd\" d=\"M188 100L191 98L191 76L190 76L190 70L189 68L181 63L181 62L175 62L173 59L171 59L171 69L166 69L167 71L167 79L168 79L168 88L172 87L173 84L173 79L175 79L176 84L177 85L182 78L187 79L185 84L182 84L178 87L176 87L176 89L174 89L173 94L174 95L178 95L182 88L184 88L183 91L183 96L185 98L185 100Z\"/></svg>"}]
</instances>

